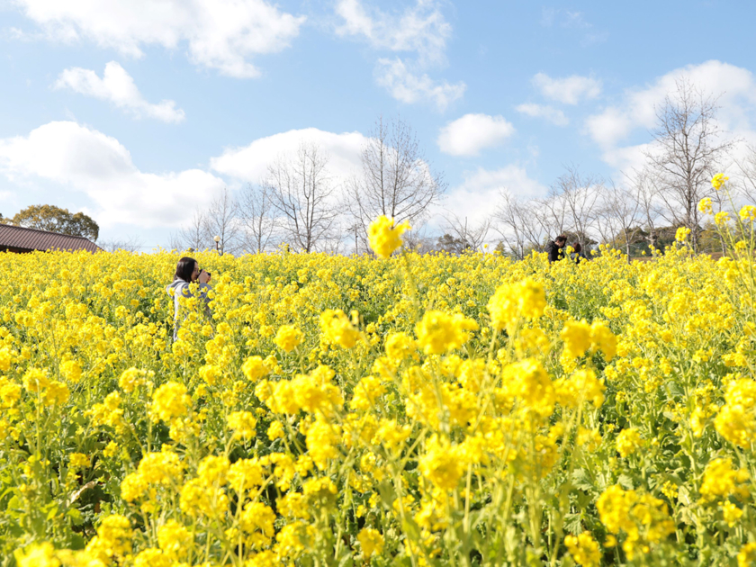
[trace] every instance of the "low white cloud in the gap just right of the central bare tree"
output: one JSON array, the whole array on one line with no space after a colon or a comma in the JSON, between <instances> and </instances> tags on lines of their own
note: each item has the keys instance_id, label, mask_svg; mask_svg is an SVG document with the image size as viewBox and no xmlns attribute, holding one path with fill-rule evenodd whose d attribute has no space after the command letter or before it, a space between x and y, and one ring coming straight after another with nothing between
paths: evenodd
<instances>
[{"instance_id":1,"label":"low white cloud in the gap just right of the central bare tree","mask_svg":"<svg viewBox=\"0 0 756 567\"><path fill-rule=\"evenodd\" d=\"M449 189L444 208L474 226L491 214L502 189L524 198L545 195L547 188L527 175L525 167L510 164L499 169L479 168L464 175L464 182Z\"/></svg>"}]
</instances>

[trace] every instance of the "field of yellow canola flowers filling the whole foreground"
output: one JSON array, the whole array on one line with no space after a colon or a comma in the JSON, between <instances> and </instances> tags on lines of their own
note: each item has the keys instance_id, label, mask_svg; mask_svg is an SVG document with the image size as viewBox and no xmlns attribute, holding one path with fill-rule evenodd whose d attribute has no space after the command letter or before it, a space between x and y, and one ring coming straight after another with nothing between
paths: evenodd
<instances>
[{"instance_id":1,"label":"field of yellow canola flowers filling the whole foreground","mask_svg":"<svg viewBox=\"0 0 756 567\"><path fill-rule=\"evenodd\" d=\"M198 254L175 342L180 255L0 255L0 563L756 564L752 257L404 228Z\"/></svg>"}]
</instances>

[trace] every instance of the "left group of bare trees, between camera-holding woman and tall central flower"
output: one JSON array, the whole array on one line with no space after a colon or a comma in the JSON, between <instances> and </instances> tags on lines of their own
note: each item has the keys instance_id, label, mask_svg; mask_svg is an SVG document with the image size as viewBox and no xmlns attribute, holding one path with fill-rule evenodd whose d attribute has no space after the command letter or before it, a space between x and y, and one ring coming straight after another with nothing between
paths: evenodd
<instances>
[{"instance_id":1,"label":"left group of bare trees, between camera-holding woman and tall central flower","mask_svg":"<svg viewBox=\"0 0 756 567\"><path fill-rule=\"evenodd\" d=\"M406 121L376 121L351 179L329 172L329 155L302 142L281 155L257 184L234 196L228 189L172 236L176 249L217 247L221 252L256 253L286 246L291 251L339 253L354 241L367 251L367 227L380 215L421 223L446 189L428 165ZM353 240L354 238L354 240Z\"/></svg>"}]
</instances>

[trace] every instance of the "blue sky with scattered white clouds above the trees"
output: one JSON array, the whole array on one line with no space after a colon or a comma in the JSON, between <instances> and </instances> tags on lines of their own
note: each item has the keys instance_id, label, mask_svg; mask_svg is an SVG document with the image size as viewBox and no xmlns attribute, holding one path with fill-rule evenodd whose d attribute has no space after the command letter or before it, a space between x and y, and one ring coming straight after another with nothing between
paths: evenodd
<instances>
[{"instance_id":1,"label":"blue sky with scattered white clouds above the trees","mask_svg":"<svg viewBox=\"0 0 756 567\"><path fill-rule=\"evenodd\" d=\"M443 207L479 219L500 188L543 194L566 164L621 178L680 76L724 93L728 135L756 140L754 16L746 1L6 0L0 212L48 202L103 239L167 245L302 138L350 175L383 113L444 172Z\"/></svg>"}]
</instances>

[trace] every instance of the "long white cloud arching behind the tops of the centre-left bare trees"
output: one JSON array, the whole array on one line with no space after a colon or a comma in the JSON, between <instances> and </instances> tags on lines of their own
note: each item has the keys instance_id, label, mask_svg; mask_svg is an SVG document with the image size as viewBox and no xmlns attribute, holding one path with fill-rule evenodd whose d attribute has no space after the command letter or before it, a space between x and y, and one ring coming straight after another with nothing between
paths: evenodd
<instances>
[{"instance_id":1,"label":"long white cloud arching behind the tops of the centre-left bare trees","mask_svg":"<svg viewBox=\"0 0 756 567\"><path fill-rule=\"evenodd\" d=\"M289 130L259 138L241 148L229 148L211 158L211 168L223 175L258 183L275 159L292 154L302 142L315 143L329 154L329 173L338 180L356 175L361 167L362 149L367 139L359 132L335 134L317 128Z\"/></svg>"}]
</instances>

